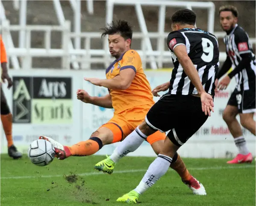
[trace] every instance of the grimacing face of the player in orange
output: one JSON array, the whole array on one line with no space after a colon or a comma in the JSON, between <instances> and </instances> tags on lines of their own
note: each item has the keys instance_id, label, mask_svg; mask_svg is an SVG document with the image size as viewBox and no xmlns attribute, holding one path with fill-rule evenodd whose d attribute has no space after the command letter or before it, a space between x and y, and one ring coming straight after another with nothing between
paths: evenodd
<instances>
[{"instance_id":1,"label":"grimacing face of the player in orange","mask_svg":"<svg viewBox=\"0 0 256 206\"><path fill-rule=\"evenodd\" d=\"M129 49L130 39L125 40L120 34L109 35L109 52L112 57L120 57L127 49Z\"/></svg>"}]
</instances>

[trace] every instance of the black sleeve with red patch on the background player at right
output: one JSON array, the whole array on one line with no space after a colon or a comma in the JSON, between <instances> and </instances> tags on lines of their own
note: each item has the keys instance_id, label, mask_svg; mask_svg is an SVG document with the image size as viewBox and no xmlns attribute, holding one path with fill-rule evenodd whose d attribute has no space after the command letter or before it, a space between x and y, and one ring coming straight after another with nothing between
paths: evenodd
<instances>
[{"instance_id":1,"label":"black sleeve with red patch on the background player at right","mask_svg":"<svg viewBox=\"0 0 256 206\"><path fill-rule=\"evenodd\" d=\"M245 31L235 34L235 45L239 54L250 53L249 37Z\"/></svg>"}]
</instances>

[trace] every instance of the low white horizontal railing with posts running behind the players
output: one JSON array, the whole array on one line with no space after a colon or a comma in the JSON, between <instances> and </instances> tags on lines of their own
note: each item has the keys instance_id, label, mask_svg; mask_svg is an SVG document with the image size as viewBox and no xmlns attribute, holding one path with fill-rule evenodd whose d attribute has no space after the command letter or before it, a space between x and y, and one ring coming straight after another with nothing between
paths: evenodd
<instances>
[{"instance_id":1,"label":"low white horizontal railing with posts running behind the players","mask_svg":"<svg viewBox=\"0 0 256 206\"><path fill-rule=\"evenodd\" d=\"M1 32L3 35L3 39L6 39L6 36L9 35L10 31L24 31L26 40L25 46L23 48L14 48L9 46L9 41L6 43L6 51L8 57L23 57L22 61L22 69L32 68L32 57L61 57L62 58L62 68L70 69L70 64L72 62L71 57L75 56L76 61L81 63L81 69L90 69L91 63L106 63L106 58L108 63L110 63L113 58L109 54L109 51L106 52L105 49L91 49L91 39L99 39L101 40L101 36L97 32L82 32L75 33L71 32L71 25L69 21L65 21L64 26L42 26L42 25L30 25L30 26L20 26L20 25L10 25L8 20L2 22ZM44 48L32 48L31 47L31 32L33 31L41 31L44 32ZM53 31L61 32L62 39L62 48L60 49L52 49L51 48L51 33ZM70 49L70 40L74 39L79 35L79 38L84 40L84 49ZM223 37L225 35L224 32L216 33L217 37ZM158 32L148 32L147 35L139 32L135 32L133 34L133 39L141 40L141 48L138 49L138 53L141 55L142 62L150 63L151 57L153 56L156 60L161 58L162 63L170 63L171 55L167 50L167 46L165 44L162 46L162 50L157 48L156 50L148 50L146 47L147 42L146 38L163 38L165 39L168 36L168 33L162 33L159 36ZM255 39L253 41L255 44ZM220 61L224 61L226 59L226 53L220 53ZM144 67L145 68L145 67ZM15 68L17 69L17 68Z\"/></svg>"}]
</instances>

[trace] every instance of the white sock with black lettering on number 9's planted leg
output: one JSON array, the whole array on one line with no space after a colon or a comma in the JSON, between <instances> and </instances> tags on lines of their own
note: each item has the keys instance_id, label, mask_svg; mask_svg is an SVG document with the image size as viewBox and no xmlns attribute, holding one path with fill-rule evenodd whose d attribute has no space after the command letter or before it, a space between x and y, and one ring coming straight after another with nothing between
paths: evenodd
<instances>
[{"instance_id":1,"label":"white sock with black lettering on number 9's planted leg","mask_svg":"<svg viewBox=\"0 0 256 206\"><path fill-rule=\"evenodd\" d=\"M172 158L163 154L159 154L158 157L150 164L146 174L142 178L141 182L134 189L138 194L142 194L149 189L157 180L160 179L167 172L170 167Z\"/></svg>"}]
</instances>

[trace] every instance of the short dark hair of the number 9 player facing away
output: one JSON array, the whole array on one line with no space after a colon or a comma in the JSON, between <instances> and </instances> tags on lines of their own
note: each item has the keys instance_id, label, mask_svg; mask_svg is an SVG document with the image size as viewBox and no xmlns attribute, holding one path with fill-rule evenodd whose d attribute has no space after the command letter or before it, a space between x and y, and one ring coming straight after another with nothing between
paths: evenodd
<instances>
[{"instance_id":1,"label":"short dark hair of the number 9 player facing away","mask_svg":"<svg viewBox=\"0 0 256 206\"><path fill-rule=\"evenodd\" d=\"M190 9L180 9L171 17L172 23L195 25L197 15Z\"/></svg>"}]
</instances>

